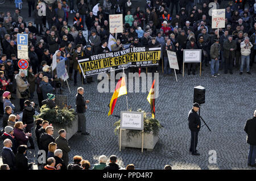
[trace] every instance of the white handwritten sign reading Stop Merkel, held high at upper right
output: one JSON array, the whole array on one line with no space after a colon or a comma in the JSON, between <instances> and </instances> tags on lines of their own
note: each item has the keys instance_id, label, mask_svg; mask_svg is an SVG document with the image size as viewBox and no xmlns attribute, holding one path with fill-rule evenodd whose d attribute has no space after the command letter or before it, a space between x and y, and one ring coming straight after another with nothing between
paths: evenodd
<instances>
[{"instance_id":1,"label":"white handwritten sign reading Stop Merkel, held high at upper right","mask_svg":"<svg viewBox=\"0 0 256 181\"><path fill-rule=\"evenodd\" d=\"M212 28L225 28L225 9L212 10Z\"/></svg>"}]
</instances>

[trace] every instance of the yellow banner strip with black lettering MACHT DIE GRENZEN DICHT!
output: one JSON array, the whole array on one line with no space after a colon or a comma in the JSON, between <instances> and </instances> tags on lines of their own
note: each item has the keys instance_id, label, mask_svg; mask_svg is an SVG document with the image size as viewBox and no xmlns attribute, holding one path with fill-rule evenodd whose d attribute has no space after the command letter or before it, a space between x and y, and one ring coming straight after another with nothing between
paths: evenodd
<instances>
[{"instance_id":1,"label":"yellow banner strip with black lettering MACHT DIE GRENZEN DICHT!","mask_svg":"<svg viewBox=\"0 0 256 181\"><path fill-rule=\"evenodd\" d=\"M97 55L95 55L97 56ZM160 50L150 52L131 52L118 57L103 58L100 60L85 61L80 63L84 73L86 71L104 69L112 66L127 64L129 62L160 60Z\"/></svg>"}]
</instances>

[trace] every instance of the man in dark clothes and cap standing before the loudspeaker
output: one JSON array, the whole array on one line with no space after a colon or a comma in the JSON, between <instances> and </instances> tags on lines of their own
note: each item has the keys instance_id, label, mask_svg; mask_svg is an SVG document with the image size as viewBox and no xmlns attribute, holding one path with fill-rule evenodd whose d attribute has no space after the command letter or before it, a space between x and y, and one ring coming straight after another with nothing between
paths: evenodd
<instances>
[{"instance_id":1,"label":"man in dark clothes and cap standing before the loudspeaker","mask_svg":"<svg viewBox=\"0 0 256 181\"><path fill-rule=\"evenodd\" d=\"M194 103L193 108L188 113L188 127L191 131L191 145L190 145L189 152L192 153L192 155L200 155L196 150L197 141L198 141L197 136L201 127L200 117L197 114L199 109L200 109L199 103Z\"/></svg>"}]
</instances>

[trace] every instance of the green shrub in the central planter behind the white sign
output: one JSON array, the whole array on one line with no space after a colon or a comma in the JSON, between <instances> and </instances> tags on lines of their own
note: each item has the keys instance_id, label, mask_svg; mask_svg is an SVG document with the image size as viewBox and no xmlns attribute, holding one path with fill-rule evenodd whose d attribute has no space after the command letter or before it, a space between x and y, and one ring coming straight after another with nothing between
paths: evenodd
<instances>
[{"instance_id":1,"label":"green shrub in the central planter behind the white sign","mask_svg":"<svg viewBox=\"0 0 256 181\"><path fill-rule=\"evenodd\" d=\"M131 110L130 110L131 111ZM144 123L144 134L149 134L150 132L153 132L154 136L158 136L159 134L159 130L160 128L162 128L162 126L160 125L159 120L152 118L152 117L148 117L147 113L144 112L143 110L139 109L137 110L138 112L143 112L143 123ZM115 135L119 133L119 129L120 129L120 122L121 120L118 120L117 122L114 123L114 127L115 127ZM134 129L127 129L127 141L131 140L131 137L134 136L139 136L142 132L141 130L134 130Z\"/></svg>"}]
</instances>

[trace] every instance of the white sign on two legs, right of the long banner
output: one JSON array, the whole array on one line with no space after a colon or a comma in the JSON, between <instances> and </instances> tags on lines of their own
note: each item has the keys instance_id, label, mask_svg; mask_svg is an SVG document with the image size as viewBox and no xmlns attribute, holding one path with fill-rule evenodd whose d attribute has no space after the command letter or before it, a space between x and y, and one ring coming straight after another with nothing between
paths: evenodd
<instances>
[{"instance_id":1,"label":"white sign on two legs, right of the long banner","mask_svg":"<svg viewBox=\"0 0 256 181\"><path fill-rule=\"evenodd\" d=\"M201 49L184 49L183 50L183 62L184 63L195 63L201 62Z\"/></svg>"}]
</instances>

